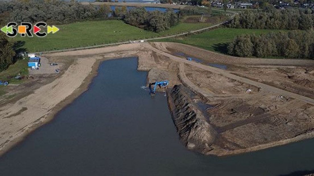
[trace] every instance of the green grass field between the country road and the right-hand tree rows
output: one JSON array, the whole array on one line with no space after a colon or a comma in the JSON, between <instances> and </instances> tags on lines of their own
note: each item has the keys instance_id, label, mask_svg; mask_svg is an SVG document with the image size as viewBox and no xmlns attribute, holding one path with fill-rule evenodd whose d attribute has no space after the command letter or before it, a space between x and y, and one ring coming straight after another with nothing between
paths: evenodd
<instances>
[{"instance_id":1,"label":"green grass field between the country road and the right-hand tree rows","mask_svg":"<svg viewBox=\"0 0 314 176\"><path fill-rule=\"evenodd\" d=\"M226 44L241 34L266 34L278 32L279 30L268 29L236 29L236 28L217 28L200 34L189 35L187 37L161 39L156 41L177 42L189 44L199 48L226 53Z\"/></svg>"}]
</instances>

